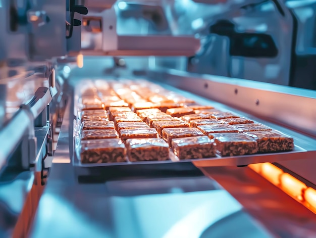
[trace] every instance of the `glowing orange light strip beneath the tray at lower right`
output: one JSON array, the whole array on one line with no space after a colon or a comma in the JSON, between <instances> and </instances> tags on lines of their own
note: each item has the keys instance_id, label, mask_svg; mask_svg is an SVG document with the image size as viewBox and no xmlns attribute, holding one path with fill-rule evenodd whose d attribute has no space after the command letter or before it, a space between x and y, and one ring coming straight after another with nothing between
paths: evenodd
<instances>
[{"instance_id":1,"label":"glowing orange light strip beneath the tray at lower right","mask_svg":"<svg viewBox=\"0 0 316 238\"><path fill-rule=\"evenodd\" d=\"M265 177L283 192L316 214L316 190L271 163L251 164L253 171Z\"/></svg>"}]
</instances>

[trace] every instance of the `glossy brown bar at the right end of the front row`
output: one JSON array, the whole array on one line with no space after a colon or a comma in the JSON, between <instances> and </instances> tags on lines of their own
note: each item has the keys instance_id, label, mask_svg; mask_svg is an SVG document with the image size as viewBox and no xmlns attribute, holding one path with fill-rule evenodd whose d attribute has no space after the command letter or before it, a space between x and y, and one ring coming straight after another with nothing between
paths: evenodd
<instances>
[{"instance_id":1,"label":"glossy brown bar at the right end of the front row","mask_svg":"<svg viewBox=\"0 0 316 238\"><path fill-rule=\"evenodd\" d=\"M291 151L294 149L294 140L275 130L244 132L258 142L259 152Z\"/></svg>"}]
</instances>

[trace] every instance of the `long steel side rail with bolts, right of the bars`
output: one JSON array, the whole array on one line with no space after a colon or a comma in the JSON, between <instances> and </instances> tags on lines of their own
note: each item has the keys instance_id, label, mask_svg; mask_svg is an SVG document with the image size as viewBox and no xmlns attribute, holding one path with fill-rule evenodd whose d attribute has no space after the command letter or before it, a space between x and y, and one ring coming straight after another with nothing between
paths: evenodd
<instances>
[{"instance_id":1,"label":"long steel side rail with bolts, right of the bars","mask_svg":"<svg viewBox=\"0 0 316 238\"><path fill-rule=\"evenodd\" d=\"M316 94L313 90L177 70L162 69L149 76L159 82L316 136ZM259 104L256 104L257 101Z\"/></svg>"}]
</instances>

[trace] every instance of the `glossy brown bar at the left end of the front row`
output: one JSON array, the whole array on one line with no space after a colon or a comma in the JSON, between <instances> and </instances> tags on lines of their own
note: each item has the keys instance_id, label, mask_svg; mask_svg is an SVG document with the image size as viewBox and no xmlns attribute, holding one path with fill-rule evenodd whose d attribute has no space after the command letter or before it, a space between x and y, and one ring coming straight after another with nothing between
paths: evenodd
<instances>
[{"instance_id":1,"label":"glossy brown bar at the left end of the front row","mask_svg":"<svg viewBox=\"0 0 316 238\"><path fill-rule=\"evenodd\" d=\"M80 160L82 164L124 162L126 148L121 139L82 140Z\"/></svg>"}]
</instances>

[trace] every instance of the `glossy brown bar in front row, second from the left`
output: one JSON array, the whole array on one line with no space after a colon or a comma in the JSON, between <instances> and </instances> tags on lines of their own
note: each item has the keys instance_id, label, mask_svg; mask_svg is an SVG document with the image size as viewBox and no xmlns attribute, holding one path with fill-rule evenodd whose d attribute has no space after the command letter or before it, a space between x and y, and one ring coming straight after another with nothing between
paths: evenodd
<instances>
[{"instance_id":1,"label":"glossy brown bar in front row, second from the left","mask_svg":"<svg viewBox=\"0 0 316 238\"><path fill-rule=\"evenodd\" d=\"M160 138L127 139L126 147L132 162L169 159L169 146Z\"/></svg>"}]
</instances>

